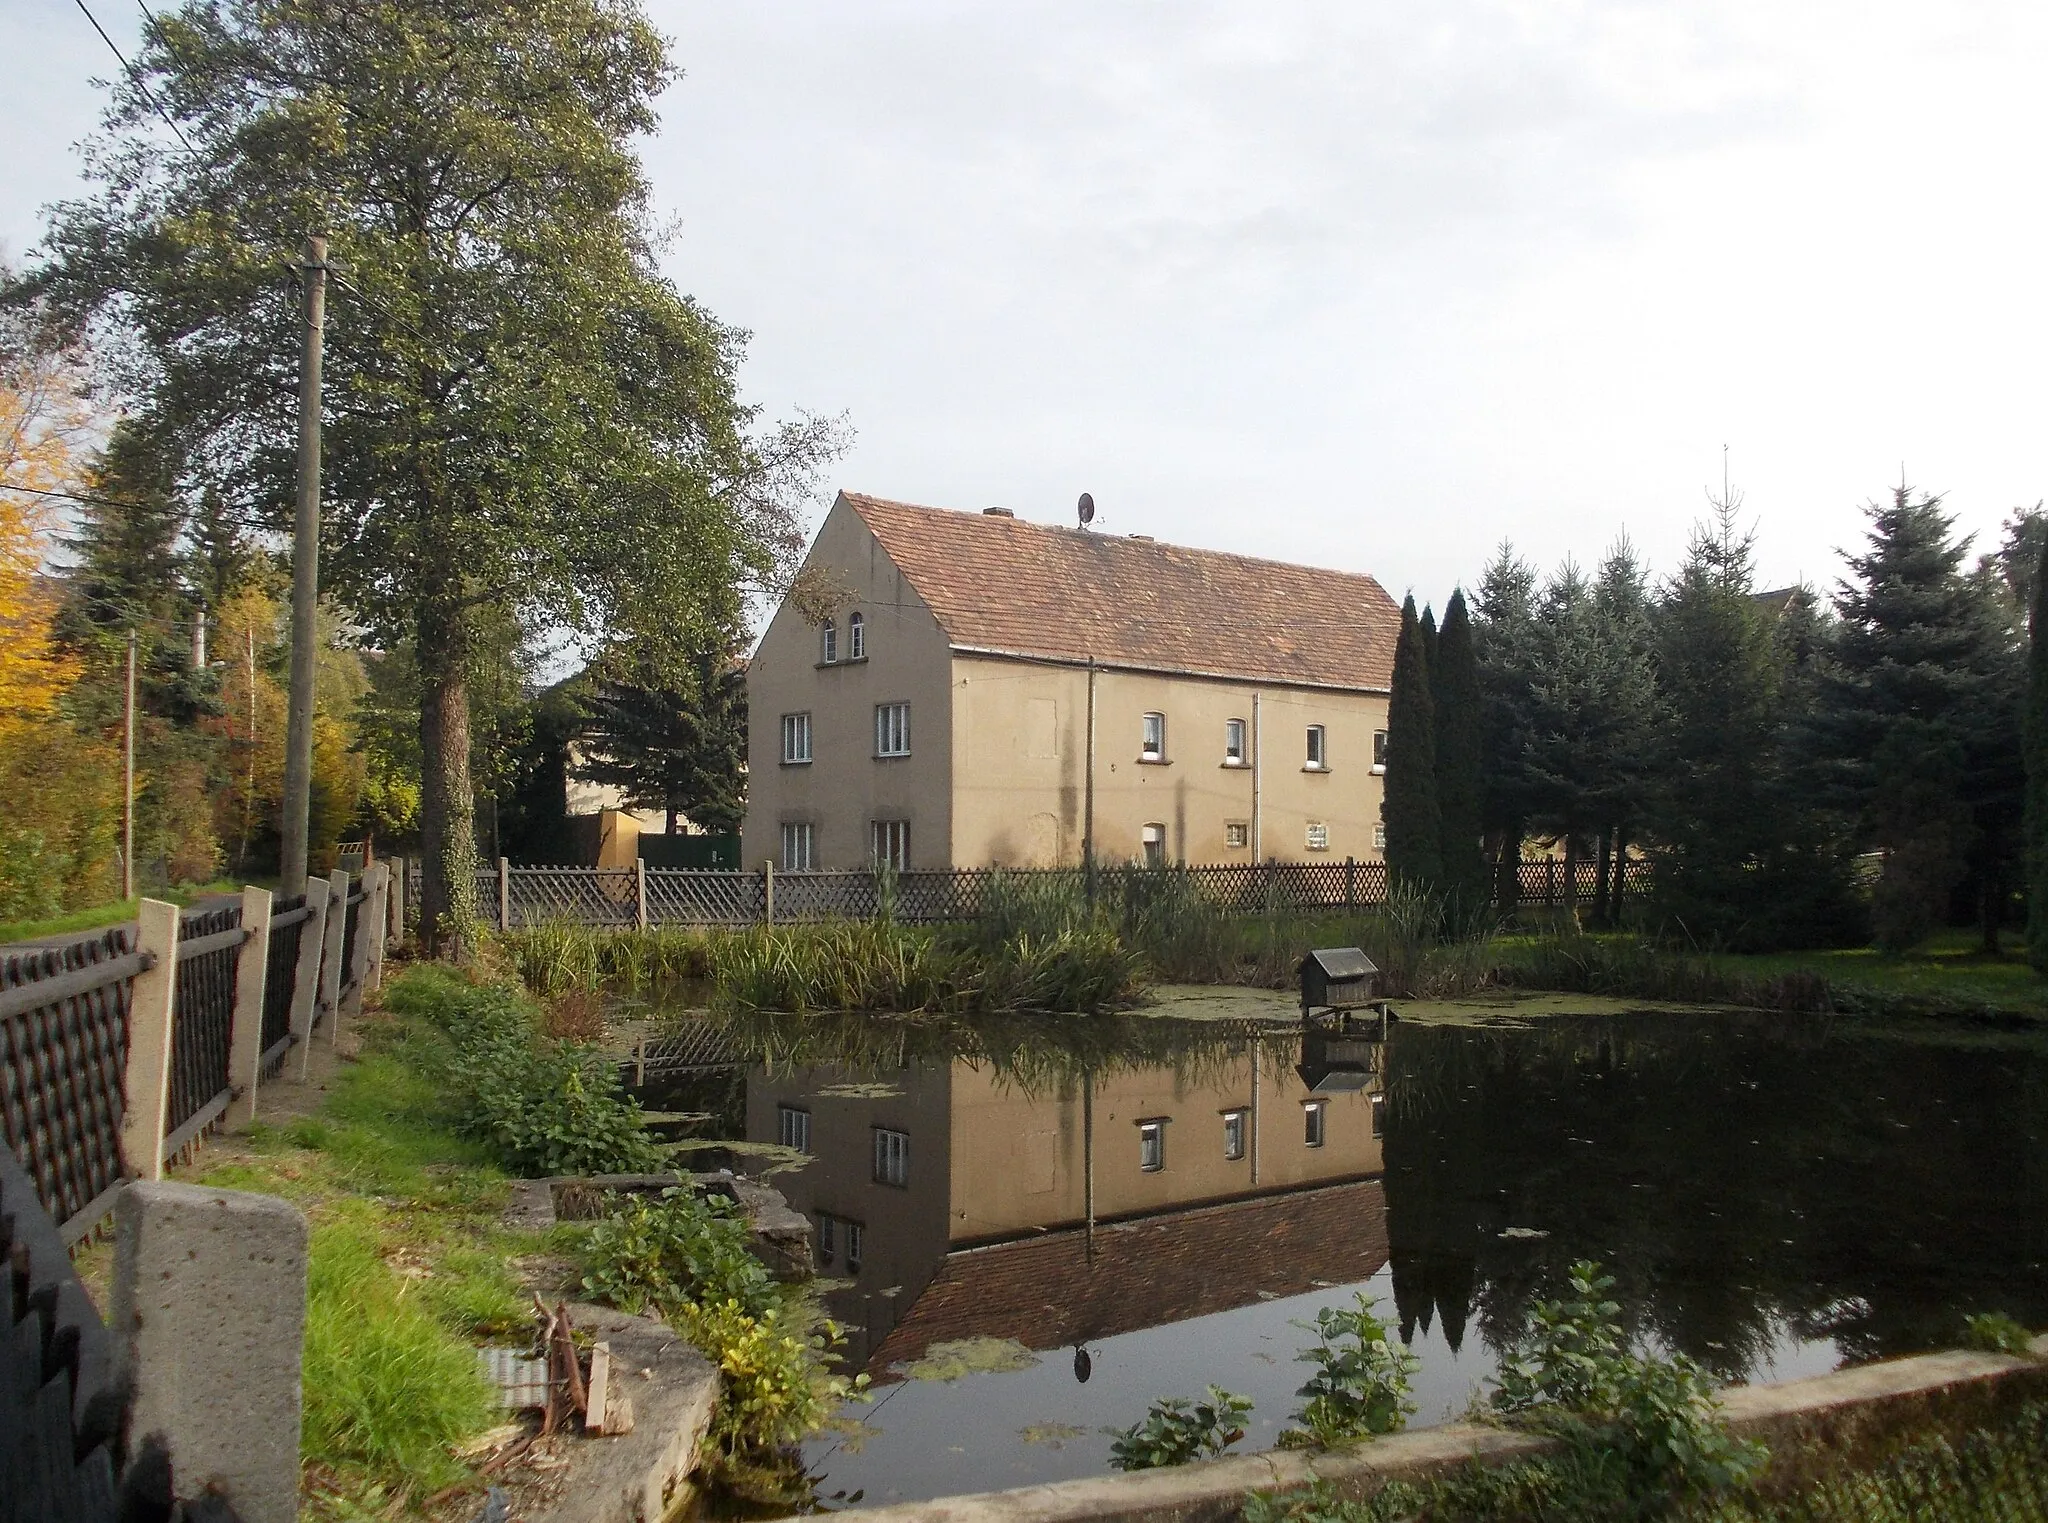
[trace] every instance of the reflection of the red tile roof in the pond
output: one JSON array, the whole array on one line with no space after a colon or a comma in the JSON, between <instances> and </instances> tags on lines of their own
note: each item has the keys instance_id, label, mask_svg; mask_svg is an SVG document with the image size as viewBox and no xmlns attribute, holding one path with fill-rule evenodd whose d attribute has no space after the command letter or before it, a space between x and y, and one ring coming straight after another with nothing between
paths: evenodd
<instances>
[{"instance_id":1,"label":"reflection of the red tile roof in the pond","mask_svg":"<svg viewBox=\"0 0 2048 1523\"><path fill-rule=\"evenodd\" d=\"M1378 1179L1321 1185L1145 1216L1087 1234L1047 1232L948 1253L868 1357L874 1380L934 1343L1016 1339L1026 1349L1184 1322L1266 1296L1305 1296L1370 1279L1386 1263Z\"/></svg>"}]
</instances>

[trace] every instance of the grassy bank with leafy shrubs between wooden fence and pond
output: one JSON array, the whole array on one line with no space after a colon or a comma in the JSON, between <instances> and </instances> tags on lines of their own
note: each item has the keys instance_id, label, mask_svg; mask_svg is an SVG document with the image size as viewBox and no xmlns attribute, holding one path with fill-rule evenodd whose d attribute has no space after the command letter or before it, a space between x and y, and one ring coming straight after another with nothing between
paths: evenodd
<instances>
[{"instance_id":1,"label":"grassy bank with leafy shrubs between wooden fence and pond","mask_svg":"<svg viewBox=\"0 0 2048 1523\"><path fill-rule=\"evenodd\" d=\"M829 1333L768 1281L748 1228L690 1195L553 1232L502 1220L516 1175L659 1167L616 1071L549 1036L504 985L412 968L362 1026L313 1116L209 1148L205 1183L283 1195L313 1224L305 1509L469 1519L506 1439L475 1347L532 1337L532 1292L657 1310L727 1372L721 1474L762 1494L840 1388Z\"/></svg>"}]
</instances>

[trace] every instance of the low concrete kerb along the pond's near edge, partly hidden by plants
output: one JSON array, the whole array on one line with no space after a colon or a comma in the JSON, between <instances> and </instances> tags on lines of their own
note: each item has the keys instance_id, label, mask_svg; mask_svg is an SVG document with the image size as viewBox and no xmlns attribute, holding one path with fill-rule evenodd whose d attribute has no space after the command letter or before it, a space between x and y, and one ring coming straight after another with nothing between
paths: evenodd
<instances>
[{"instance_id":1,"label":"low concrete kerb along the pond's near edge, partly hidden by plants","mask_svg":"<svg viewBox=\"0 0 2048 1523\"><path fill-rule=\"evenodd\" d=\"M2048 1394L2048 1337L2032 1359L2001 1353L1925 1353L1782 1386L1722 1394L1724 1425L1772 1445L1772 1490L1819 1468L1874 1457L1901 1431L1958 1427L2021 1394ZM1477 1423L1395 1433L1341 1451L1270 1451L1171 1470L1092 1476L1049 1486L940 1496L862 1509L862 1523L1227 1523L1245 1494L1290 1492L1317 1480L1362 1500L1391 1480L1427 1482L1468 1464L1503 1466L1556 1451L1554 1439Z\"/></svg>"}]
</instances>

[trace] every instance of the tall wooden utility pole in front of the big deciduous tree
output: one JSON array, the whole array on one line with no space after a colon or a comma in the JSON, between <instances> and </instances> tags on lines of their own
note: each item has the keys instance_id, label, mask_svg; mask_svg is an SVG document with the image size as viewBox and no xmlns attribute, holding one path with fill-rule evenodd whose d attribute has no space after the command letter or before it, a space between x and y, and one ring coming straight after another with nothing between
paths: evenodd
<instances>
[{"instance_id":1,"label":"tall wooden utility pole in front of the big deciduous tree","mask_svg":"<svg viewBox=\"0 0 2048 1523\"><path fill-rule=\"evenodd\" d=\"M305 893L313 802L313 643L319 639L319 340L328 313L328 240L305 240L305 334L299 356L299 508L291 524L291 706L285 716L283 893Z\"/></svg>"}]
</instances>

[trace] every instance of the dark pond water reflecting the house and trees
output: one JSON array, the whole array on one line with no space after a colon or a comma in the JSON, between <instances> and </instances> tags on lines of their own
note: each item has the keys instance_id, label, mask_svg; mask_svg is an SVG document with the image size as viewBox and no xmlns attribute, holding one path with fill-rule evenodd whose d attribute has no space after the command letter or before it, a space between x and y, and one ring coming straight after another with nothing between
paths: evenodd
<instances>
[{"instance_id":1,"label":"dark pond water reflecting the house and trees","mask_svg":"<svg viewBox=\"0 0 2048 1523\"><path fill-rule=\"evenodd\" d=\"M1645 1345L1729 1382L2048 1322L2048 1052L2019 1038L758 1017L666 1054L645 1099L811 1218L874 1382L807 1445L821 1507L1104 1474L1104 1429L1208 1382L1270 1447L1296 1324L1356 1292L1444 1421L1583 1257Z\"/></svg>"}]
</instances>

